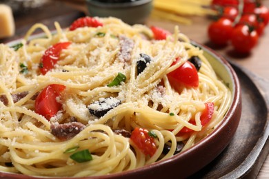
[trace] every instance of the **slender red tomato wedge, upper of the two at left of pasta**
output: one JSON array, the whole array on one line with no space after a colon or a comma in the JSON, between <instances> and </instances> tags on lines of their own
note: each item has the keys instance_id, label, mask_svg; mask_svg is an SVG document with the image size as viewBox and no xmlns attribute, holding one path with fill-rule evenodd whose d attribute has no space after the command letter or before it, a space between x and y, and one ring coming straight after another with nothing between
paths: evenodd
<instances>
[{"instance_id":1,"label":"slender red tomato wedge, upper of the two at left of pasta","mask_svg":"<svg viewBox=\"0 0 269 179\"><path fill-rule=\"evenodd\" d=\"M54 67L59 60L61 50L68 48L70 44L70 42L56 43L45 51L41 58L41 65L39 65L41 74L46 74Z\"/></svg>"}]
</instances>

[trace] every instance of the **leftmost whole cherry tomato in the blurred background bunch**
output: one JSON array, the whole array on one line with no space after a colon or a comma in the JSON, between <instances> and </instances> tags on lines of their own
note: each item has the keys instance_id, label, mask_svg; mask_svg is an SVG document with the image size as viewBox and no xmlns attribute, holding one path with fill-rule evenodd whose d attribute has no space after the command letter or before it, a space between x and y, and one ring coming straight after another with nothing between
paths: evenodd
<instances>
[{"instance_id":1,"label":"leftmost whole cherry tomato in the blurred background bunch","mask_svg":"<svg viewBox=\"0 0 269 179\"><path fill-rule=\"evenodd\" d=\"M211 23L208 27L208 36L210 41L217 45L225 45L228 43L231 33L232 21L224 17Z\"/></svg>"}]
</instances>

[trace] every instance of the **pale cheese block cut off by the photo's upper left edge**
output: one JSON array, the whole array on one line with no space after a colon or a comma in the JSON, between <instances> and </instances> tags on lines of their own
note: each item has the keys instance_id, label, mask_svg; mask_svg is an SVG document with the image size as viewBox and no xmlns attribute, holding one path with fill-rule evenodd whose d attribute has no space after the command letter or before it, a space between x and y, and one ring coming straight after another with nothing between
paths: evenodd
<instances>
[{"instance_id":1,"label":"pale cheese block cut off by the photo's upper left edge","mask_svg":"<svg viewBox=\"0 0 269 179\"><path fill-rule=\"evenodd\" d=\"M10 6L0 4L0 39L14 35L15 25Z\"/></svg>"}]
</instances>

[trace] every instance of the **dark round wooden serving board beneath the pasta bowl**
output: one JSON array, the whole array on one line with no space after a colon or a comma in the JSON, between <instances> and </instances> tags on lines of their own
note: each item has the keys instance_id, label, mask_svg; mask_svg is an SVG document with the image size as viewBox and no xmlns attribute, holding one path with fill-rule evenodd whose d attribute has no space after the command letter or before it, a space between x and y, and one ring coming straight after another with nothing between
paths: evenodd
<instances>
[{"instance_id":1,"label":"dark round wooden serving board beneath the pasta bowl","mask_svg":"<svg viewBox=\"0 0 269 179\"><path fill-rule=\"evenodd\" d=\"M228 147L190 178L256 178L268 156L269 81L239 65L232 67L242 89L239 127Z\"/></svg>"}]
</instances>

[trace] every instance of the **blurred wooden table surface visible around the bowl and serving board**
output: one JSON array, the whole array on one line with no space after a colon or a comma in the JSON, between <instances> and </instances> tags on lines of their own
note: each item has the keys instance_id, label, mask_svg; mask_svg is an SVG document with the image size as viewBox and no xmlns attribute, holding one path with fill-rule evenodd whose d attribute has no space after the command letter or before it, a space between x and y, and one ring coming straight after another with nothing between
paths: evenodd
<instances>
[{"instance_id":1,"label":"blurred wooden table surface visible around the bowl and serving board","mask_svg":"<svg viewBox=\"0 0 269 179\"><path fill-rule=\"evenodd\" d=\"M269 0L263 1L263 4L269 7ZM79 10L72 8L72 6L67 6L66 3L63 2L57 1L53 4L47 4L42 8L31 10L28 13L16 15L14 17L16 34L11 38L0 39L0 43L6 43L13 39L20 38L26 34L27 30L34 23L43 23L53 30L54 21L59 21L62 27L67 27L74 21L74 19L84 15L85 14L79 12ZM179 25L179 30L188 35L190 39L208 45L213 50L226 56L230 61L239 64L253 74L266 79L266 81L269 80L269 27L265 29L263 36L259 39L259 43L252 53L242 56L234 52L231 45L228 45L225 48L215 48L214 45L208 41L207 28L210 23L209 19L206 17L192 17L192 20L192 25L182 25L170 21L160 21L150 18L146 21L146 25L158 25L159 27L166 28L170 31L174 30L175 25ZM266 90L265 93L268 95L269 89ZM269 178L269 158L263 163L258 178Z\"/></svg>"}]
</instances>

